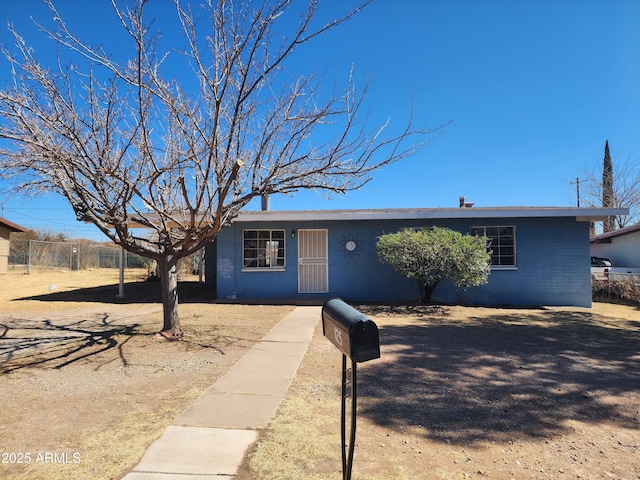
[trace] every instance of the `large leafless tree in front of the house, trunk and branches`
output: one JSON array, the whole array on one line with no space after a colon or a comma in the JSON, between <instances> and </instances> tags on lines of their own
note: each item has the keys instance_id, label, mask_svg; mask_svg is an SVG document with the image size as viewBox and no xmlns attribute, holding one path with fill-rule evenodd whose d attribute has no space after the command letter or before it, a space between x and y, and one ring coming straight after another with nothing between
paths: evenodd
<instances>
[{"instance_id":1,"label":"large leafless tree in front of the house, trunk and branches","mask_svg":"<svg viewBox=\"0 0 640 480\"><path fill-rule=\"evenodd\" d=\"M45 2L55 24L40 27L56 61L40 63L11 27L15 48L3 49L12 84L0 90L0 171L23 192L59 193L78 220L156 260L167 337L182 334L176 261L253 198L357 189L439 130L411 119L396 133L388 122L371 127L361 111L367 88L352 75L326 95L319 75L285 68L368 2L314 27L315 0L294 22L288 0L205 0L196 11L174 0L185 46L162 51L148 0L112 0L130 47L112 53L78 38Z\"/></svg>"}]
</instances>

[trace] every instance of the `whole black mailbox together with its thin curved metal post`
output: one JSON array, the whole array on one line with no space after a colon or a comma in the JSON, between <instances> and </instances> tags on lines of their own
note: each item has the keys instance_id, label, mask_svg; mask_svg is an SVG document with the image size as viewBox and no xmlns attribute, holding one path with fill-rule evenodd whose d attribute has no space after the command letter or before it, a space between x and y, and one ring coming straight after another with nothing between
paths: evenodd
<instances>
[{"instance_id":1,"label":"whole black mailbox together with its thin curved metal post","mask_svg":"<svg viewBox=\"0 0 640 480\"><path fill-rule=\"evenodd\" d=\"M356 366L358 362L380 358L378 326L363 313L339 298L334 298L322 307L322 333L342 353L342 413L340 416L342 479L351 480L356 438ZM347 357L351 359L351 432L348 455L346 445Z\"/></svg>"}]
</instances>

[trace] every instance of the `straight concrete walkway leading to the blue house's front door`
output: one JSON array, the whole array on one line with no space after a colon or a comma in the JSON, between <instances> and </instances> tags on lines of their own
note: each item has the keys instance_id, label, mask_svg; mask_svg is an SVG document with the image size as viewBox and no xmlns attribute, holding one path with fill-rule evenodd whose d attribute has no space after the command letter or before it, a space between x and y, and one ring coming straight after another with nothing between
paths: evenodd
<instances>
[{"instance_id":1,"label":"straight concrete walkway leading to the blue house's front door","mask_svg":"<svg viewBox=\"0 0 640 480\"><path fill-rule=\"evenodd\" d=\"M320 311L297 307L282 319L167 427L124 480L234 478L287 393Z\"/></svg>"}]
</instances>

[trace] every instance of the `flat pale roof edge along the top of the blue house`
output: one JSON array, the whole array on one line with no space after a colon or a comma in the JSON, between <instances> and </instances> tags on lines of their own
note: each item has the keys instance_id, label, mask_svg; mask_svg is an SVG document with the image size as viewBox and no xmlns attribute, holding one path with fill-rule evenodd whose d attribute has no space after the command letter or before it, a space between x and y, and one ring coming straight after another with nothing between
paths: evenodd
<instances>
[{"instance_id":1,"label":"flat pale roof edge along the top of the blue house","mask_svg":"<svg viewBox=\"0 0 640 480\"><path fill-rule=\"evenodd\" d=\"M452 218L575 217L577 221L602 221L612 215L628 215L626 208L577 207L471 207L397 208L365 210L259 210L242 211L237 222L309 220L418 220Z\"/></svg>"}]
</instances>

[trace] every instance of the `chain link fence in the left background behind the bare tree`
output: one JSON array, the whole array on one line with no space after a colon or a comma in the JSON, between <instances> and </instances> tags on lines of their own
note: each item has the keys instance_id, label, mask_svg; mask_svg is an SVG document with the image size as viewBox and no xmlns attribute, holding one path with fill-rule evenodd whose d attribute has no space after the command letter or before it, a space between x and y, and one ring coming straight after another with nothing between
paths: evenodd
<instances>
[{"instance_id":1,"label":"chain link fence in the left background behind the bare tree","mask_svg":"<svg viewBox=\"0 0 640 480\"><path fill-rule=\"evenodd\" d=\"M148 259L124 251L126 268L147 268ZM120 247L100 243L11 240L9 270L118 268Z\"/></svg>"}]
</instances>

